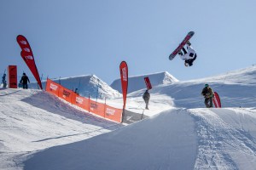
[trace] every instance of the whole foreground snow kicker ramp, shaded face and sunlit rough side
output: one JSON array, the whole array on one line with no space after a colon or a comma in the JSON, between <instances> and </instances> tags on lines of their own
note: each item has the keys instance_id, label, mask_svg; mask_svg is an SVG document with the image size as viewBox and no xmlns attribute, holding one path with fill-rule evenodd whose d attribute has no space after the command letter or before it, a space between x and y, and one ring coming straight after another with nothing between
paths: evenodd
<instances>
[{"instance_id":1,"label":"whole foreground snow kicker ramp, shaded face and sunlit rough side","mask_svg":"<svg viewBox=\"0 0 256 170\"><path fill-rule=\"evenodd\" d=\"M36 153L25 169L255 169L256 111L177 109Z\"/></svg>"}]
</instances>

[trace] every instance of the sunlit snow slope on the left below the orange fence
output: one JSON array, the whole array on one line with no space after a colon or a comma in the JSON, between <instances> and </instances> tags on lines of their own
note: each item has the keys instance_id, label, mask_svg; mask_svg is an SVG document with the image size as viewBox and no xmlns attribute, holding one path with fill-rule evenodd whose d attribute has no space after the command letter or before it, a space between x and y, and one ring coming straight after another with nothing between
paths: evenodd
<instances>
[{"instance_id":1,"label":"sunlit snow slope on the left below the orange fence","mask_svg":"<svg viewBox=\"0 0 256 170\"><path fill-rule=\"evenodd\" d=\"M22 169L33 151L122 127L64 104L46 92L0 89L0 169Z\"/></svg>"}]
</instances>

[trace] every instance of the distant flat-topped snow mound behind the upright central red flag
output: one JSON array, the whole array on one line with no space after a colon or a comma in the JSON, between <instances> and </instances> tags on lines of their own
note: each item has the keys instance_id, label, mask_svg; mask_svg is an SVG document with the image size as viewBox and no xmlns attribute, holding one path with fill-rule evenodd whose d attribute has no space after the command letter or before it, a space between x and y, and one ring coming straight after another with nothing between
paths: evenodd
<instances>
[{"instance_id":1,"label":"distant flat-topped snow mound behind the upright central red flag","mask_svg":"<svg viewBox=\"0 0 256 170\"><path fill-rule=\"evenodd\" d=\"M140 89L146 89L144 77L149 78L153 88L154 88L154 86L158 86L160 84L170 84L172 82L178 82L177 78L173 77L167 71L154 73L154 74L148 74L148 75L142 75L142 76L136 76L136 77L129 77L128 94L130 94L131 92L140 90ZM110 86L113 89L116 89L117 91L119 91L119 93L122 93L120 79L113 81Z\"/></svg>"}]
</instances>

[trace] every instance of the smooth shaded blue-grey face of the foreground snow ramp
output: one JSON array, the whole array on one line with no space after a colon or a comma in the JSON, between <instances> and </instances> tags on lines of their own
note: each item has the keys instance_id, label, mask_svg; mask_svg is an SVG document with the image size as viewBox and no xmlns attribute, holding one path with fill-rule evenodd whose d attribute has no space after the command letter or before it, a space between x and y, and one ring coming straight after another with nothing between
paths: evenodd
<instances>
[{"instance_id":1,"label":"smooth shaded blue-grey face of the foreground snow ramp","mask_svg":"<svg viewBox=\"0 0 256 170\"><path fill-rule=\"evenodd\" d=\"M193 169L194 127L186 111L165 111L111 133L38 152L25 169Z\"/></svg>"}]
</instances>

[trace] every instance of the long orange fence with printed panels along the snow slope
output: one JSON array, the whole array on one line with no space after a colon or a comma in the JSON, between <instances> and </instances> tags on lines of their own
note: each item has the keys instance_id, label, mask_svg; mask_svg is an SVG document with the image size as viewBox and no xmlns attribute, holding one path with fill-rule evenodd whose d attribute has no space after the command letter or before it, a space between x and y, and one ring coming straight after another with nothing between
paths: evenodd
<instances>
[{"instance_id":1,"label":"long orange fence with printed panels along the snow slope","mask_svg":"<svg viewBox=\"0 0 256 170\"><path fill-rule=\"evenodd\" d=\"M72 105L77 105L90 113L102 116L114 122L122 121L122 109L117 109L112 106L96 102L90 98L88 99L79 96L79 94L74 93L70 89L62 87L60 84L53 82L49 78L47 79L45 90L49 94L55 94L55 96L66 100Z\"/></svg>"}]
</instances>

